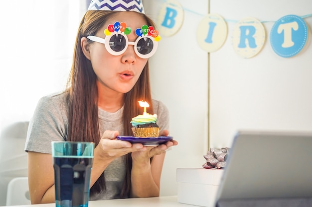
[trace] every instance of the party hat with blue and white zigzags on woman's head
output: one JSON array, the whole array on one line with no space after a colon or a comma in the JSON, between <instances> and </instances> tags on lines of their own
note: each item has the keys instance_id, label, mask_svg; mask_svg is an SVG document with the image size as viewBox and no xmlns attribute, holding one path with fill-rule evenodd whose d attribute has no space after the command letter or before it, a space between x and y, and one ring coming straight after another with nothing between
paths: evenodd
<instances>
[{"instance_id":1,"label":"party hat with blue and white zigzags on woman's head","mask_svg":"<svg viewBox=\"0 0 312 207\"><path fill-rule=\"evenodd\" d=\"M88 10L137 11L145 13L142 0L92 0Z\"/></svg>"}]
</instances>

